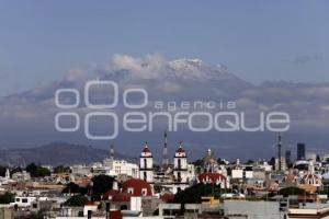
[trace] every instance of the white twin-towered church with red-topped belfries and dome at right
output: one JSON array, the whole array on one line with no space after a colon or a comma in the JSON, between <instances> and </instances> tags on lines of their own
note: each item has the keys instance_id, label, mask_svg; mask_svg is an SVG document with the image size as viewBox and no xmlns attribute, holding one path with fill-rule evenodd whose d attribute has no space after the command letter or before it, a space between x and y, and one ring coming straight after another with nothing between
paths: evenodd
<instances>
[{"instance_id":1,"label":"white twin-towered church with red-topped belfries and dome at right","mask_svg":"<svg viewBox=\"0 0 329 219\"><path fill-rule=\"evenodd\" d=\"M158 193L170 192L175 194L195 183L220 184L229 186L227 171L213 158L211 149L202 159L202 170L196 171L194 164L189 163L186 151L180 142L175 149L173 162L168 159L167 132L161 164L157 165L149 145L146 142L139 157L139 178L148 182Z\"/></svg>"}]
</instances>

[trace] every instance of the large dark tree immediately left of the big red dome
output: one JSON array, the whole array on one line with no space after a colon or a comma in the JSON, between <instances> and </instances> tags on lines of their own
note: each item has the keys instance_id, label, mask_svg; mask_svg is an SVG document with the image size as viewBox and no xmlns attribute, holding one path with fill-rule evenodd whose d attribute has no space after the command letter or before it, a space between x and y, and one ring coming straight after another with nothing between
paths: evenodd
<instances>
[{"instance_id":1,"label":"large dark tree immediately left of the big red dome","mask_svg":"<svg viewBox=\"0 0 329 219\"><path fill-rule=\"evenodd\" d=\"M100 200L101 196L113 187L114 177L97 175L92 180L92 199Z\"/></svg>"}]
</instances>

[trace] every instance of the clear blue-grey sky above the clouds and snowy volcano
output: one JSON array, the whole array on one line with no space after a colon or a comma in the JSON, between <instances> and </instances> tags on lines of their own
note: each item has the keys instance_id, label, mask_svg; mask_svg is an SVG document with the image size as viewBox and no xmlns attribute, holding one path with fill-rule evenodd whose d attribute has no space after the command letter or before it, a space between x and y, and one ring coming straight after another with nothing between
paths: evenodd
<instances>
[{"instance_id":1,"label":"clear blue-grey sky above the clouds and snowy volcano","mask_svg":"<svg viewBox=\"0 0 329 219\"><path fill-rule=\"evenodd\" d=\"M224 64L240 78L329 81L328 1L0 1L0 93L114 54Z\"/></svg>"}]
</instances>

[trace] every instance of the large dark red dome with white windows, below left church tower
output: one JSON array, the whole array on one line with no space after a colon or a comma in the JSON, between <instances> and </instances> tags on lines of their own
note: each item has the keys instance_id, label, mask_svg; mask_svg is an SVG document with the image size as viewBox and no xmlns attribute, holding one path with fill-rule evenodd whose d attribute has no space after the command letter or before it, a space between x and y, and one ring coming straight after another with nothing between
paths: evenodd
<instances>
[{"instance_id":1,"label":"large dark red dome with white windows, below left church tower","mask_svg":"<svg viewBox=\"0 0 329 219\"><path fill-rule=\"evenodd\" d=\"M131 178L123 183L123 193L132 196L152 196L151 186L144 180Z\"/></svg>"}]
</instances>

